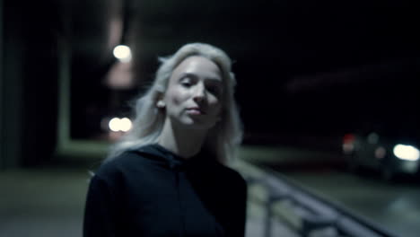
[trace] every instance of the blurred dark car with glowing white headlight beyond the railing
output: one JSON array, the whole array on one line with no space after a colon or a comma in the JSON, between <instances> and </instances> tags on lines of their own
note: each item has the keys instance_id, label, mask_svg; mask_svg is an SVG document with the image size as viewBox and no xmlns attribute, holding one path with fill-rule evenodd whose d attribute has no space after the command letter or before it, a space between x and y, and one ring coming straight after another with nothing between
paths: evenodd
<instances>
[{"instance_id":1,"label":"blurred dark car with glowing white headlight beyond the railing","mask_svg":"<svg viewBox=\"0 0 420 237\"><path fill-rule=\"evenodd\" d=\"M418 174L419 147L418 136L377 131L343 136L347 168L350 171L359 171L361 168L379 171L384 180L394 180L400 174Z\"/></svg>"}]
</instances>

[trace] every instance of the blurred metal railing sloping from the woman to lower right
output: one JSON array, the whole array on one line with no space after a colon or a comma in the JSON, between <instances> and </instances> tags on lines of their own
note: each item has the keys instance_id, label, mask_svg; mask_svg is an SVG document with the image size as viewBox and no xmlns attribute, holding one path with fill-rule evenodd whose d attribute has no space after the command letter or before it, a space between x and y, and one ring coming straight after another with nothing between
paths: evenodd
<instances>
[{"instance_id":1,"label":"blurred metal railing sloping from the woman to lower right","mask_svg":"<svg viewBox=\"0 0 420 237\"><path fill-rule=\"evenodd\" d=\"M273 217L281 218L302 237L309 237L311 233L326 229L333 230L328 232L328 236L397 237L363 217L350 213L344 207L302 189L291 180L275 174L275 171L262 171L258 176L244 176L249 187L259 185L266 192L265 200L259 200L266 209L262 233L264 237L274 236ZM280 207L275 208L276 206Z\"/></svg>"}]
</instances>

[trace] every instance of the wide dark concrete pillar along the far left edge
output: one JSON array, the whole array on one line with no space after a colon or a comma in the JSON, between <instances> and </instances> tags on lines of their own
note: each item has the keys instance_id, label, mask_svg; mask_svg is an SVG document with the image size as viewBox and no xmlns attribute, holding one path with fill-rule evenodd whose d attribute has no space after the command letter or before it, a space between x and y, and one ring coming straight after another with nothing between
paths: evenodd
<instances>
[{"instance_id":1,"label":"wide dark concrete pillar along the far left edge","mask_svg":"<svg viewBox=\"0 0 420 237\"><path fill-rule=\"evenodd\" d=\"M50 9L57 6L53 1L0 1L0 169L4 170L47 161L54 150L57 11Z\"/></svg>"}]
</instances>

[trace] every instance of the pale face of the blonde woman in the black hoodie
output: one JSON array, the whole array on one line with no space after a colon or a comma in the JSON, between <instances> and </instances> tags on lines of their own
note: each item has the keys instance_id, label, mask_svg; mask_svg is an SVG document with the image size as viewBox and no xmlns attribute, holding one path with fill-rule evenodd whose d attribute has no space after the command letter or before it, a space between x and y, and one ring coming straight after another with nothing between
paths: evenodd
<instances>
[{"instance_id":1,"label":"pale face of the blonde woman in the black hoodie","mask_svg":"<svg viewBox=\"0 0 420 237\"><path fill-rule=\"evenodd\" d=\"M222 73L206 57L187 57L171 75L163 96L172 124L209 129L221 118Z\"/></svg>"}]
</instances>

